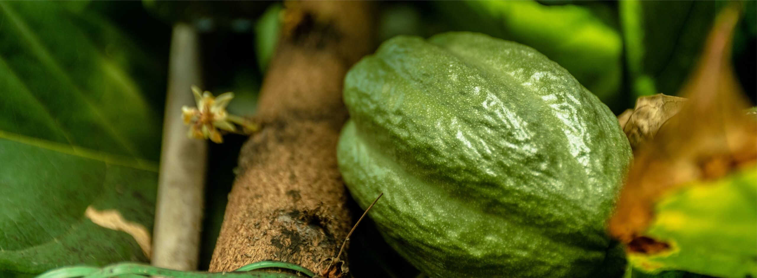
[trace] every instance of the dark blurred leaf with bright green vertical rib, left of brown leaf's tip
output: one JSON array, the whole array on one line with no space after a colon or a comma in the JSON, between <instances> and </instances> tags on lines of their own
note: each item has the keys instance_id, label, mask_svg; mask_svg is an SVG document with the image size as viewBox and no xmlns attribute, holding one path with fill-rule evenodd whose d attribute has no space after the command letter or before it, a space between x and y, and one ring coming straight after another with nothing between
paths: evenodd
<instances>
[{"instance_id":1,"label":"dark blurred leaf with bright green vertical rib, left of brown leaf's tip","mask_svg":"<svg viewBox=\"0 0 757 278\"><path fill-rule=\"evenodd\" d=\"M716 1L619 3L631 90L675 94L693 70L718 8Z\"/></svg>"}]
</instances>

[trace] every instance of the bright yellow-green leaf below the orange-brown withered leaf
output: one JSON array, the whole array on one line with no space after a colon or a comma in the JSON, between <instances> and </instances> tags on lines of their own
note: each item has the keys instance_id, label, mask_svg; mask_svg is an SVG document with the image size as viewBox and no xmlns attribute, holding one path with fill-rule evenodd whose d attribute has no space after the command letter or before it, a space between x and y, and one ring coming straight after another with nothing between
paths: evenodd
<instances>
[{"instance_id":1,"label":"bright yellow-green leaf below the orange-brown withered leaf","mask_svg":"<svg viewBox=\"0 0 757 278\"><path fill-rule=\"evenodd\" d=\"M757 276L757 165L718 181L694 181L663 196L646 235L669 247L631 252L642 270L686 270L719 277Z\"/></svg>"}]
</instances>

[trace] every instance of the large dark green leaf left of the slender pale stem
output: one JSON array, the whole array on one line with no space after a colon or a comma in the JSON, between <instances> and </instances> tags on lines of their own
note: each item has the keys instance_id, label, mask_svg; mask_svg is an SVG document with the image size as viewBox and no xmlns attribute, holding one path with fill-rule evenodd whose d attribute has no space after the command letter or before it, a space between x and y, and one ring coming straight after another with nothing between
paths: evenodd
<instances>
[{"instance_id":1,"label":"large dark green leaf left of the slender pale stem","mask_svg":"<svg viewBox=\"0 0 757 278\"><path fill-rule=\"evenodd\" d=\"M85 212L150 234L162 120L145 95L164 87L134 76L160 73L71 7L0 2L0 273L147 260L132 233Z\"/></svg>"}]
</instances>

